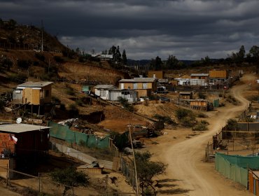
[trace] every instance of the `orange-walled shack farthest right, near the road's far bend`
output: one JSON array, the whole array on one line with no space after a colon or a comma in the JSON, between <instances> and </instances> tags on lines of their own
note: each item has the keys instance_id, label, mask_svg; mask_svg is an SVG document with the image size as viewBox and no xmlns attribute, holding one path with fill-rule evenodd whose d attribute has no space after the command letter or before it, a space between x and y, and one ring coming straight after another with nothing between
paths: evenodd
<instances>
[{"instance_id":1,"label":"orange-walled shack farthest right, near the road's far bend","mask_svg":"<svg viewBox=\"0 0 259 196\"><path fill-rule=\"evenodd\" d=\"M227 70L210 70L209 83L212 85L228 83L229 72Z\"/></svg>"}]
</instances>

